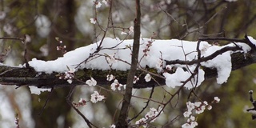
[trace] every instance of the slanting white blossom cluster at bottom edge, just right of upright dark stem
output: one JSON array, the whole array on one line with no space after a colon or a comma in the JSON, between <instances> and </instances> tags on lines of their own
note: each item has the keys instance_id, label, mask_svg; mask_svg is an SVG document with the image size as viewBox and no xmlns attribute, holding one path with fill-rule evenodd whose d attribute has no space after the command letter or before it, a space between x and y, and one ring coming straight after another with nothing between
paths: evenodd
<instances>
[{"instance_id":1,"label":"slanting white blossom cluster at bottom edge, just right of upright dark stem","mask_svg":"<svg viewBox=\"0 0 256 128\"><path fill-rule=\"evenodd\" d=\"M138 126L146 127L148 126L149 122L154 122L158 118L158 115L161 114L161 112L161 106L158 107L158 110L155 108L150 108L150 111L145 115L145 117L139 119L137 122L135 122L135 124Z\"/></svg>"}]
</instances>

